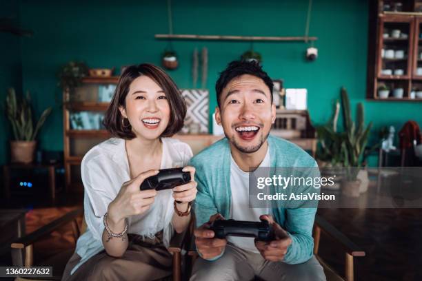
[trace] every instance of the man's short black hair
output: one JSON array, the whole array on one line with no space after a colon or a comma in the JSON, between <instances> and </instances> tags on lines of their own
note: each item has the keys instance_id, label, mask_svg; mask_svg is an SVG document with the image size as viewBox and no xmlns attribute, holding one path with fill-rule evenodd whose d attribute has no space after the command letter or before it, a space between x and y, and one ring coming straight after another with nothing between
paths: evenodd
<instances>
[{"instance_id":1,"label":"man's short black hair","mask_svg":"<svg viewBox=\"0 0 422 281\"><path fill-rule=\"evenodd\" d=\"M271 103L272 103L272 88L274 84L272 79L268 76L267 72L262 70L258 61L232 61L228 67L220 72L219 79L215 84L215 92L217 93L217 104L220 107L220 96L225 86L227 86L233 79L242 76L243 74L250 74L262 79L265 85L270 89Z\"/></svg>"}]
</instances>

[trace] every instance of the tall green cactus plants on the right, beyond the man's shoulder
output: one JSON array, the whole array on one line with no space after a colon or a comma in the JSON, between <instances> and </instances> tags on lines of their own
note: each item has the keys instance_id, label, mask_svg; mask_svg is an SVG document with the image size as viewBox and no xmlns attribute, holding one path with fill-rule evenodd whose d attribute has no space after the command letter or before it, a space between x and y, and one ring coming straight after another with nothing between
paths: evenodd
<instances>
[{"instance_id":1,"label":"tall green cactus plants on the right, beyond the man's shoulder","mask_svg":"<svg viewBox=\"0 0 422 281\"><path fill-rule=\"evenodd\" d=\"M338 132L339 104L339 101L336 101L333 117L328 124L316 129L319 143L321 143L319 158L330 161L333 166L361 167L364 162L364 152L372 122L365 127L362 103L357 105L356 122L352 121L348 92L342 87L341 107L344 132ZM358 169L353 170L353 174L349 175L351 179L356 178Z\"/></svg>"}]
</instances>

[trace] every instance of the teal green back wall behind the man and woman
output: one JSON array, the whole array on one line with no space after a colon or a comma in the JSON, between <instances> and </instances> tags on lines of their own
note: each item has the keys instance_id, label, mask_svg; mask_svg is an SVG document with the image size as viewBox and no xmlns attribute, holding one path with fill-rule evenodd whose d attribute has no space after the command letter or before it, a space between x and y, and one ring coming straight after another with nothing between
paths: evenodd
<instances>
[{"instance_id":1,"label":"teal green back wall behind the man and woman","mask_svg":"<svg viewBox=\"0 0 422 281\"><path fill-rule=\"evenodd\" d=\"M154 39L167 33L165 0L160 1L30 1L19 2L21 23L34 37L20 39L22 87L33 94L39 114L47 106L54 112L40 139L45 149L62 149L61 98L55 73L59 65L81 59L90 67L121 67L132 63L160 63L167 42ZM302 36L307 0L300 1L172 1L173 29L180 34L235 34ZM310 35L319 38L319 59L303 59L305 43L256 42L263 67L285 87L308 88L308 107L314 124L330 118L332 101L341 85L347 87L352 107L365 104L366 120L374 132L383 125L399 129L414 119L422 125L421 103L365 101L368 42L368 2L313 1ZM229 61L250 48L248 42L174 41L180 67L169 72L179 87L192 87L194 48L209 52L210 108L216 105L214 83ZM375 135L375 134L374 134Z\"/></svg>"}]
</instances>

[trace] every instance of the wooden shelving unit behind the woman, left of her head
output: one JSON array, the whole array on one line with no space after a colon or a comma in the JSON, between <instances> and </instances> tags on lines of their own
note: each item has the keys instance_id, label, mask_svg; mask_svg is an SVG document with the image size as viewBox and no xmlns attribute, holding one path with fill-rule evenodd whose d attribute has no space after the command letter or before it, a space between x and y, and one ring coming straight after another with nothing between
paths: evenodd
<instances>
[{"instance_id":1,"label":"wooden shelving unit behind the woman, left of her head","mask_svg":"<svg viewBox=\"0 0 422 281\"><path fill-rule=\"evenodd\" d=\"M110 138L102 125L119 77L88 76L63 92L63 150L66 189L82 191L81 161L91 147Z\"/></svg>"}]
</instances>

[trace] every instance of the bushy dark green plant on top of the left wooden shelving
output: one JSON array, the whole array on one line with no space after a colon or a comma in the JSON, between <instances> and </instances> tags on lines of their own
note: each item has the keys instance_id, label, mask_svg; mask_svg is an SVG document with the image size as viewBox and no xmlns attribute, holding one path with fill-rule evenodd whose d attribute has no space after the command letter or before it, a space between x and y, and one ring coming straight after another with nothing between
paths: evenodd
<instances>
[{"instance_id":1,"label":"bushy dark green plant on top of the left wooden shelving","mask_svg":"<svg viewBox=\"0 0 422 281\"><path fill-rule=\"evenodd\" d=\"M57 72L59 87L72 90L82 84L83 77L88 76L88 66L83 61L69 61Z\"/></svg>"}]
</instances>

